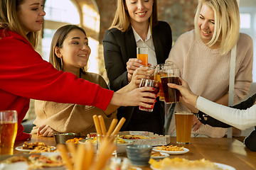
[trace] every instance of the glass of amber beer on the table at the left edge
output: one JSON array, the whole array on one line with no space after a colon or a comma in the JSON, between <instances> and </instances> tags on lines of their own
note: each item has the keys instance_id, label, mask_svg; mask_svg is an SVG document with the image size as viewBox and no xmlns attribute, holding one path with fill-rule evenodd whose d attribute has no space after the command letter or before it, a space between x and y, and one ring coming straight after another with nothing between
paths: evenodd
<instances>
[{"instance_id":1,"label":"glass of amber beer on the table at the left edge","mask_svg":"<svg viewBox=\"0 0 256 170\"><path fill-rule=\"evenodd\" d=\"M17 128L17 111L0 111L0 155L14 154Z\"/></svg>"}]
</instances>

